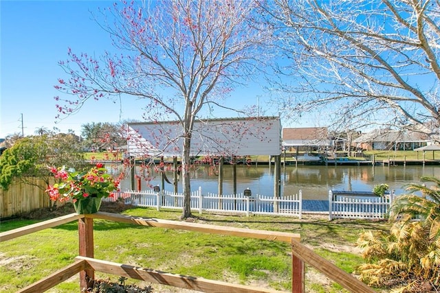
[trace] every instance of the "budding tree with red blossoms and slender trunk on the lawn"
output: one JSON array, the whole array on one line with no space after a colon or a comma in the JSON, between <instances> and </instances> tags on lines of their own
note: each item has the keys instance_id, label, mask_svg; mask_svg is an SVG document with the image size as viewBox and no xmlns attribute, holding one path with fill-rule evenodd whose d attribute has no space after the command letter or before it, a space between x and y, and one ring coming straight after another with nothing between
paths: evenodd
<instances>
[{"instance_id":1,"label":"budding tree with red blossoms and slender trunk on the lawn","mask_svg":"<svg viewBox=\"0 0 440 293\"><path fill-rule=\"evenodd\" d=\"M179 121L183 129L184 211L190 216L190 144L201 110L225 106L237 82L252 78L261 60L268 30L257 27L254 1L175 0L118 3L102 11L98 23L111 34L118 55L96 60L74 54L60 62L69 75L57 89L61 115L75 113L88 99L145 99L145 119ZM62 105L61 105L62 104ZM230 109L229 110L236 110Z\"/></svg>"}]
</instances>

